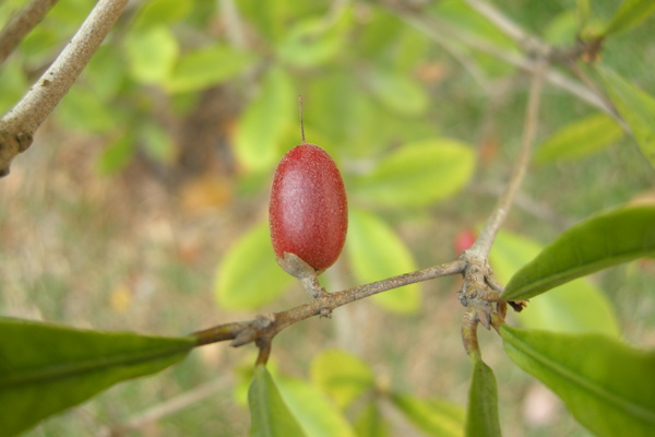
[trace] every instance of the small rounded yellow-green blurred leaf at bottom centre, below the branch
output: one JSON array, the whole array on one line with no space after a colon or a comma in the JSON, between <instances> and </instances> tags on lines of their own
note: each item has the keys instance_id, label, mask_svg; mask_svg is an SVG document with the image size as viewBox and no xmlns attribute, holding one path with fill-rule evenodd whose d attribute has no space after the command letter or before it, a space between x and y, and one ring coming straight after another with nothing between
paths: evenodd
<instances>
[{"instance_id":1,"label":"small rounded yellow-green blurred leaf at bottom centre, below the branch","mask_svg":"<svg viewBox=\"0 0 655 437\"><path fill-rule=\"evenodd\" d=\"M374 387L373 371L361 358L342 350L321 352L311 363L311 379L346 409Z\"/></svg>"}]
</instances>

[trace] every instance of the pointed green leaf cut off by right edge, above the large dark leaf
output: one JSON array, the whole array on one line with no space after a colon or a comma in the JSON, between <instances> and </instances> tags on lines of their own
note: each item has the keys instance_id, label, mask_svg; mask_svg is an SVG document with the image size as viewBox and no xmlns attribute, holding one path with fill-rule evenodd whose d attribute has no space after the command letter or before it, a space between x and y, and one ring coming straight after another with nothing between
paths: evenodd
<instances>
[{"instance_id":1,"label":"pointed green leaf cut off by right edge, above the large dark leaf","mask_svg":"<svg viewBox=\"0 0 655 437\"><path fill-rule=\"evenodd\" d=\"M630 126L642 153L655 167L655 98L608 68L602 68L599 71L611 102Z\"/></svg>"}]
</instances>

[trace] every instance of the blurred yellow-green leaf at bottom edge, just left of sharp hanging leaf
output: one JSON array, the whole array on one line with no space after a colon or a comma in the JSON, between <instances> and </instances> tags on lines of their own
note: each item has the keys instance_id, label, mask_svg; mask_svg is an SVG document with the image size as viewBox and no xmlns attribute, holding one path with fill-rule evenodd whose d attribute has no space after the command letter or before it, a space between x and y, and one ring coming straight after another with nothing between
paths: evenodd
<instances>
[{"instance_id":1,"label":"blurred yellow-green leaf at bottom edge, just left of sharp hanging leaf","mask_svg":"<svg viewBox=\"0 0 655 437\"><path fill-rule=\"evenodd\" d=\"M440 399L426 400L407 394L392 394L391 401L417 428L430 436L464 435L466 413L460 405Z\"/></svg>"}]
</instances>

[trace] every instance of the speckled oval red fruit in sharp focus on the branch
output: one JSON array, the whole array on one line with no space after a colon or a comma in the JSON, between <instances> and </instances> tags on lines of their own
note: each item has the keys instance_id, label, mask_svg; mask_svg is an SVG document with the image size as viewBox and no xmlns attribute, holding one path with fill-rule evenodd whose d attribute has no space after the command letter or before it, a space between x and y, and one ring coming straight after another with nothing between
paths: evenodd
<instances>
[{"instance_id":1,"label":"speckled oval red fruit in sharp focus on the branch","mask_svg":"<svg viewBox=\"0 0 655 437\"><path fill-rule=\"evenodd\" d=\"M305 142L288 151L277 164L269 205L278 262L286 252L318 273L332 265L346 240L347 206L344 181L327 152Z\"/></svg>"}]
</instances>

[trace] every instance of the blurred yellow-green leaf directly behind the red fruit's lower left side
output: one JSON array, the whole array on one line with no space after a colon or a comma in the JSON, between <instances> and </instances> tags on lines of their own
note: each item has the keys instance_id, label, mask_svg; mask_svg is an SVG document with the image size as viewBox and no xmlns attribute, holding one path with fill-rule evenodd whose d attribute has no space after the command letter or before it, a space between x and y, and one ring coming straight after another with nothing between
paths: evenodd
<instances>
[{"instance_id":1,"label":"blurred yellow-green leaf directly behind the red fruit's lower left side","mask_svg":"<svg viewBox=\"0 0 655 437\"><path fill-rule=\"evenodd\" d=\"M216 300L227 309L255 309L277 298L293 281L277 265L269 224L262 223L239 238L221 261Z\"/></svg>"}]
</instances>

